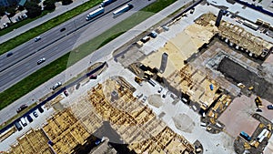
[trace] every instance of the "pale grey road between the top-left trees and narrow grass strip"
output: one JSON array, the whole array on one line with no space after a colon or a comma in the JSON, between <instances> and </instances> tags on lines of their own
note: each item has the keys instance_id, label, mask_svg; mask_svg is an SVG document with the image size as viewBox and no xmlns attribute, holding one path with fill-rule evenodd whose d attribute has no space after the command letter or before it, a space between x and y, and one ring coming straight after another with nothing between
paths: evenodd
<instances>
[{"instance_id":1,"label":"pale grey road between the top-left trees and narrow grass strip","mask_svg":"<svg viewBox=\"0 0 273 154\"><path fill-rule=\"evenodd\" d=\"M0 44L4 43L5 41L14 38L15 36L19 36L23 33L25 33L27 30L34 28L35 26L39 26L46 21L56 17L57 15L62 15L66 13L66 11L72 10L78 5L83 5L88 0L74 0L74 2L70 5L59 5L59 3L56 3L56 10L50 14L44 15L43 17L40 17L36 19L35 21L28 23L25 26L21 26L18 29L13 30L12 32L6 34L5 36L0 36ZM21 13L19 13L21 15ZM6 17L7 18L7 17ZM8 20L8 19L7 19ZM2 21L2 20L1 20ZM1 26L3 26L4 23L0 23Z\"/></svg>"}]
</instances>

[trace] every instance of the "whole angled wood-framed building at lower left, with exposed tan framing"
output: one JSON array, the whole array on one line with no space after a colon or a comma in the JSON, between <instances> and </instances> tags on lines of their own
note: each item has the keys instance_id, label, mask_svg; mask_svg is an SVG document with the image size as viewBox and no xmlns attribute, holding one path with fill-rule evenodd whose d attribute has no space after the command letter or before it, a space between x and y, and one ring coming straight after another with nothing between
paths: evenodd
<instances>
[{"instance_id":1,"label":"whole angled wood-framed building at lower left, with exposed tan framing","mask_svg":"<svg viewBox=\"0 0 273 154\"><path fill-rule=\"evenodd\" d=\"M8 153L82 153L95 147L97 130L107 121L118 144L133 153L195 153L193 144L133 97L134 87L122 77L107 79L71 105L48 118L43 128L29 130ZM86 108L88 107L88 108ZM105 130L109 131L109 130ZM116 139L109 136L109 142ZM118 138L117 138L118 139Z\"/></svg>"}]
</instances>

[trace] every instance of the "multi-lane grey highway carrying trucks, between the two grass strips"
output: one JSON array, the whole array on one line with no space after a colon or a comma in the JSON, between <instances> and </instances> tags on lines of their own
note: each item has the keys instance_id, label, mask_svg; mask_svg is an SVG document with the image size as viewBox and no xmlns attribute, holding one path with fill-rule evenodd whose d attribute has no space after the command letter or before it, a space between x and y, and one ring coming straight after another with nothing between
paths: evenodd
<instances>
[{"instance_id":1,"label":"multi-lane grey highway carrying trucks, between the two grass strips","mask_svg":"<svg viewBox=\"0 0 273 154\"><path fill-rule=\"evenodd\" d=\"M89 39L90 36L91 38L96 37L106 31L106 29L124 20L127 17L126 15L113 18L111 10L126 2L126 0L121 0L107 5L104 15L99 15L94 20L87 22L86 15L98 8L96 6L88 12L78 15L66 23L45 32L45 34L41 35L42 39L40 41L35 42L33 39L22 46L16 47L11 51L14 53L13 56L6 57L6 54L0 56L0 92L13 86L56 58L65 55L74 47L86 42L87 40L81 36L88 35ZM134 5L134 7L130 11L137 11L152 2L154 1L141 0L139 2L133 0L130 4ZM60 29L63 27L66 27L66 30L60 32ZM38 66L36 61L41 57L45 57L46 60L45 63Z\"/></svg>"}]
</instances>

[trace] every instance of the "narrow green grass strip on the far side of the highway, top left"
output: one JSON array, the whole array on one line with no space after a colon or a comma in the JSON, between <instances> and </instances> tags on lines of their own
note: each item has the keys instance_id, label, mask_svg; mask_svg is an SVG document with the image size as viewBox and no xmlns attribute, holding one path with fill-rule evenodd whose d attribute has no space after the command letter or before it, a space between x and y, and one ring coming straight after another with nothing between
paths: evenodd
<instances>
[{"instance_id":1,"label":"narrow green grass strip on the far side of the highway, top left","mask_svg":"<svg viewBox=\"0 0 273 154\"><path fill-rule=\"evenodd\" d=\"M86 10L92 8L95 5L100 4L101 2L102 2L102 0L87 1L85 4L79 5L75 8L73 8L72 10L67 11L66 13L64 13L62 15L58 15L55 18L48 20L47 22L45 22L44 24L42 24L40 26L36 26L19 36L15 36L13 39L10 39L10 40L0 44L0 48L1 48L0 55L8 52L9 50L15 48L16 46L20 46L20 45L24 44L26 41L33 39L35 36L39 36L39 35L45 33L46 31L50 30L51 28L66 22L67 20L71 19L72 17L85 12ZM22 21L22 22L24 22L24 21Z\"/></svg>"}]
</instances>

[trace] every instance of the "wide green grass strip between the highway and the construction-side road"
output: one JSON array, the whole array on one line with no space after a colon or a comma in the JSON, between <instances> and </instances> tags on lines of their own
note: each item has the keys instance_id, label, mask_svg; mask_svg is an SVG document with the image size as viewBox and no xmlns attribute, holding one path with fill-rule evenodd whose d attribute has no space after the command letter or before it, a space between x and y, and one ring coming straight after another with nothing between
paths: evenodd
<instances>
[{"instance_id":1,"label":"wide green grass strip between the highway and the construction-side road","mask_svg":"<svg viewBox=\"0 0 273 154\"><path fill-rule=\"evenodd\" d=\"M59 57L54 62L37 70L32 75L25 77L25 79L15 84L13 87L9 87L4 92L0 93L0 109L5 108L16 99L23 97L25 94L35 89L35 87L40 86L48 79L55 77L57 74L64 71L66 67L72 66L77 61L96 51L98 47L103 46L117 36L122 35L128 29L138 25L151 15L154 15L167 7L167 5L171 5L176 1L177 0L157 0L152 5L148 5L116 26L106 30L103 34L96 36L92 40L67 53L65 56ZM127 40L125 40L125 42L126 41Z\"/></svg>"}]
</instances>

